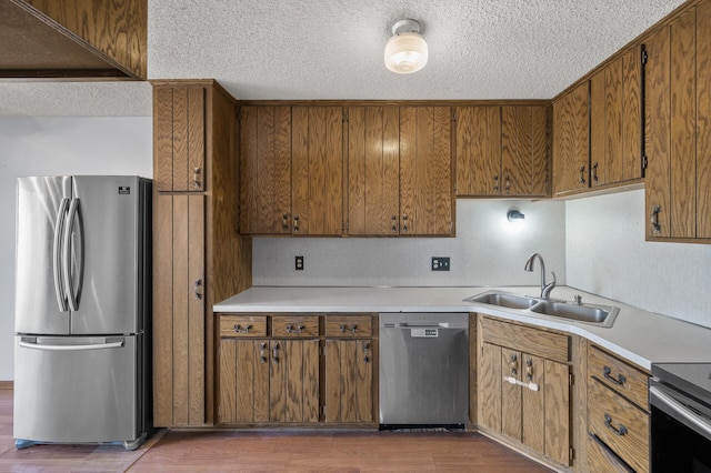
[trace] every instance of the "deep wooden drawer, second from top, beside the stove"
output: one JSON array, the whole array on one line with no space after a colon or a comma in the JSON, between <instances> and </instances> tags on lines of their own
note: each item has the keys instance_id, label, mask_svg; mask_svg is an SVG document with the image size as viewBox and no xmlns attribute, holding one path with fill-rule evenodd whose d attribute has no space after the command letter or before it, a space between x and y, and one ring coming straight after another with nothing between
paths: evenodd
<instances>
[{"instance_id":1,"label":"deep wooden drawer, second from top, beside the stove","mask_svg":"<svg viewBox=\"0 0 711 473\"><path fill-rule=\"evenodd\" d=\"M597 380L588 383L588 431L635 471L649 471L649 414Z\"/></svg>"}]
</instances>

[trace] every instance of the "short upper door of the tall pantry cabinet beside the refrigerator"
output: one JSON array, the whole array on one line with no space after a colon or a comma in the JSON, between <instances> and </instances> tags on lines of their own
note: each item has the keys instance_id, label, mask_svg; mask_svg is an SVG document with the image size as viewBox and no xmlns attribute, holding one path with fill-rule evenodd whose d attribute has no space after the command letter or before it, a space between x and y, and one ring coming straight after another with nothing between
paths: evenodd
<instances>
[{"instance_id":1,"label":"short upper door of the tall pantry cabinet beside the refrigerator","mask_svg":"<svg viewBox=\"0 0 711 473\"><path fill-rule=\"evenodd\" d=\"M153 185L159 192L206 190L206 88L153 91Z\"/></svg>"}]
</instances>

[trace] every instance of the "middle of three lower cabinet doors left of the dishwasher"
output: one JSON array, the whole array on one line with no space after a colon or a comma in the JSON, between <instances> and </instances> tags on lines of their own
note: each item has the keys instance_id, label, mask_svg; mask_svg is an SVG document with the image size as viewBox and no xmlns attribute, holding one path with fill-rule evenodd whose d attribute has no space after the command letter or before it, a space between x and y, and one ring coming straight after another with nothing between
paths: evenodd
<instances>
[{"instance_id":1,"label":"middle of three lower cabinet doors left of the dishwasher","mask_svg":"<svg viewBox=\"0 0 711 473\"><path fill-rule=\"evenodd\" d=\"M272 340L270 422L319 422L319 341Z\"/></svg>"}]
</instances>

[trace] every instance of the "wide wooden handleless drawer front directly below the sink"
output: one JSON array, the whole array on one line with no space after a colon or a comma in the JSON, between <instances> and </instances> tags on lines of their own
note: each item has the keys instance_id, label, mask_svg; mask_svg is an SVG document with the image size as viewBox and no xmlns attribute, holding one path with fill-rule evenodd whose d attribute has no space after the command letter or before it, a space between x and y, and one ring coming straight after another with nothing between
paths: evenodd
<instances>
[{"instance_id":1,"label":"wide wooden handleless drawer front directly below the sink","mask_svg":"<svg viewBox=\"0 0 711 473\"><path fill-rule=\"evenodd\" d=\"M561 363L568 361L568 335L489 318L481 318L481 336L487 343L515 346L522 352Z\"/></svg>"}]
</instances>

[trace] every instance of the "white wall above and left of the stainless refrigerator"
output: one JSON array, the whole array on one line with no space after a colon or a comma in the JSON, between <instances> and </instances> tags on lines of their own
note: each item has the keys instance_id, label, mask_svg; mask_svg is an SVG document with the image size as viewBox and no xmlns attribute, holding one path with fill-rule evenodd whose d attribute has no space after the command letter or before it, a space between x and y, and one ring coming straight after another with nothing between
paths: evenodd
<instances>
[{"instance_id":1,"label":"white wall above and left of the stainless refrigerator","mask_svg":"<svg viewBox=\"0 0 711 473\"><path fill-rule=\"evenodd\" d=\"M13 379L17 178L152 177L152 119L0 117L0 380Z\"/></svg>"}]
</instances>

